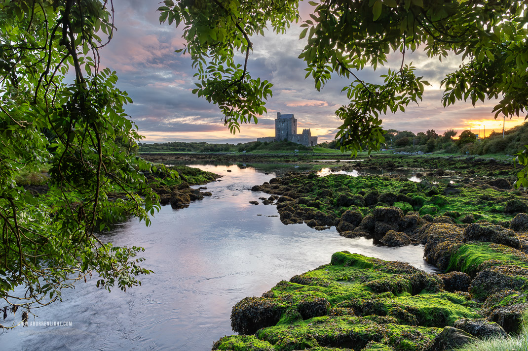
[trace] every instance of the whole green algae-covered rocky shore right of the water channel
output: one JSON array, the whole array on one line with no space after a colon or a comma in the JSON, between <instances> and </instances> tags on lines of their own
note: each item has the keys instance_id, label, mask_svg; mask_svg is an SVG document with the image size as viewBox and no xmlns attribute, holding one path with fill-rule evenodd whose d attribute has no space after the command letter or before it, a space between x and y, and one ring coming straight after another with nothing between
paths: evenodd
<instances>
[{"instance_id":1,"label":"whole green algae-covered rocky shore right of the water channel","mask_svg":"<svg viewBox=\"0 0 528 351\"><path fill-rule=\"evenodd\" d=\"M336 226L379 245L422 243L442 274L336 252L329 265L241 300L231 314L240 335L213 349L436 351L520 330L528 202L507 179L435 184L287 173L252 190L270 194L262 202L276 204L286 225Z\"/></svg>"}]
</instances>

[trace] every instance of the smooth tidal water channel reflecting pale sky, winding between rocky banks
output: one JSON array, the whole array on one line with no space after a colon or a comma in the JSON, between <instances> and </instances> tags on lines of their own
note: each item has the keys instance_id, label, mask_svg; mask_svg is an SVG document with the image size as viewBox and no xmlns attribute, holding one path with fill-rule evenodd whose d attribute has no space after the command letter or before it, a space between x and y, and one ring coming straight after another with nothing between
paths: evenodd
<instances>
[{"instance_id":1,"label":"smooth tidal water channel reflecting pale sky, winding between rocky banks","mask_svg":"<svg viewBox=\"0 0 528 351\"><path fill-rule=\"evenodd\" d=\"M35 309L39 317L30 317L30 322L71 325L2 331L0 350L210 350L220 337L233 334L229 316L235 303L327 264L336 251L434 270L423 261L422 246L380 247L364 238L343 238L335 227L283 225L275 206L258 199L269 195L250 190L275 177L269 167L190 165L223 176L205 184L212 197L184 209L164 206L150 227L131 219L102 236L118 246L145 247L142 266L155 274L141 277L142 286L127 292L98 289L96 277L80 282L63 291L62 303Z\"/></svg>"}]
</instances>

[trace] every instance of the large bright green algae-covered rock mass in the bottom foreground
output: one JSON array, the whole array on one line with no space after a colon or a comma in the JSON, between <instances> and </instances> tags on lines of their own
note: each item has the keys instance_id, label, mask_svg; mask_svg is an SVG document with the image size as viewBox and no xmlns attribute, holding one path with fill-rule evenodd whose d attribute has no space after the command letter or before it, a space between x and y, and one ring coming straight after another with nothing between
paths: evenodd
<instances>
[{"instance_id":1,"label":"large bright green algae-covered rock mass in the bottom foreground","mask_svg":"<svg viewBox=\"0 0 528 351\"><path fill-rule=\"evenodd\" d=\"M256 331L262 344L240 335L222 338L215 347L419 351L440 328L482 317L474 301L442 287L436 275L403 262L336 252L331 264L281 281L261 298L246 298L233 307L233 330Z\"/></svg>"}]
</instances>

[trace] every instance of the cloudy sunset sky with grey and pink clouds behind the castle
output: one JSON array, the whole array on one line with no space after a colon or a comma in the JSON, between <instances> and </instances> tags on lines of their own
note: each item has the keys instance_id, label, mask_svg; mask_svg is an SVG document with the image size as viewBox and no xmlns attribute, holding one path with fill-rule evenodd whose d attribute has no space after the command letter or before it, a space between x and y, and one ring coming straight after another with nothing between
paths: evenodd
<instances>
[{"instance_id":1,"label":"cloudy sunset sky with grey and pink clouds behind the castle","mask_svg":"<svg viewBox=\"0 0 528 351\"><path fill-rule=\"evenodd\" d=\"M118 86L126 90L134 100L127 106L127 113L136 122L145 142L207 141L246 142L257 137L275 134L277 112L294 113L298 131L310 128L318 135L319 142L332 140L340 125L334 112L346 104L341 94L349 81L335 77L318 92L313 79L304 79L306 64L297 56L305 42L298 40L299 27L293 26L287 34L272 32L251 38L253 52L248 70L253 78L260 76L274 84L274 95L266 104L268 114L259 123L242 125L241 132L230 134L224 126L220 110L205 99L191 93L195 81L190 58L174 51L183 48L181 30L174 25L159 24L157 1L114 0L116 27L113 40L101 50L101 63L119 76ZM302 3L300 12L307 16L312 6ZM502 120L495 121L493 102L477 104L458 102L444 108L441 104L440 80L447 72L454 71L460 61L449 58L439 62L423 53L406 55L406 63L418 67L417 75L423 75L432 84L419 106L409 106L405 113L388 114L383 118L386 129L412 132L435 129L462 131L471 128L486 135L492 130L502 130ZM359 73L362 79L376 81L387 68L398 68L400 54L393 54L388 66L374 72L367 69ZM522 123L521 119L506 120L506 128ZM300 132L300 131L299 131Z\"/></svg>"}]
</instances>

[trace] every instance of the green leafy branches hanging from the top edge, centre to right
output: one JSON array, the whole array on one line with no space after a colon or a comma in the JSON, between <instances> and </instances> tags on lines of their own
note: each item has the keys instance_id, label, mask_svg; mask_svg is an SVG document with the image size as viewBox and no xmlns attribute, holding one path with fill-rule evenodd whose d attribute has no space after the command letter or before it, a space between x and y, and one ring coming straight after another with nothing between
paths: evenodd
<instances>
[{"instance_id":1,"label":"green leafy branches hanging from the top edge, centre to right","mask_svg":"<svg viewBox=\"0 0 528 351\"><path fill-rule=\"evenodd\" d=\"M196 68L196 89L219 106L232 132L240 123L266 112L272 94L267 81L254 79L248 67L251 36L265 28L284 33L299 22L298 0L165 0L160 21L183 26L183 49ZM527 9L523 1L488 0L321 0L300 24L307 38L299 58L306 77L324 87L332 74L350 79L343 87L350 102L336 111L341 149L379 149L384 142L381 116L418 103L429 83L406 62L406 53L425 51L440 61L460 55L464 63L442 80L445 106L467 100L498 99L495 118L524 115L528 107ZM376 69L388 55L401 54L397 70L384 70L383 84L366 82L357 70ZM235 63L237 54L244 64ZM518 159L523 163L526 159ZM526 164L526 162L524 162ZM525 187L528 181L520 183Z\"/></svg>"}]
</instances>

